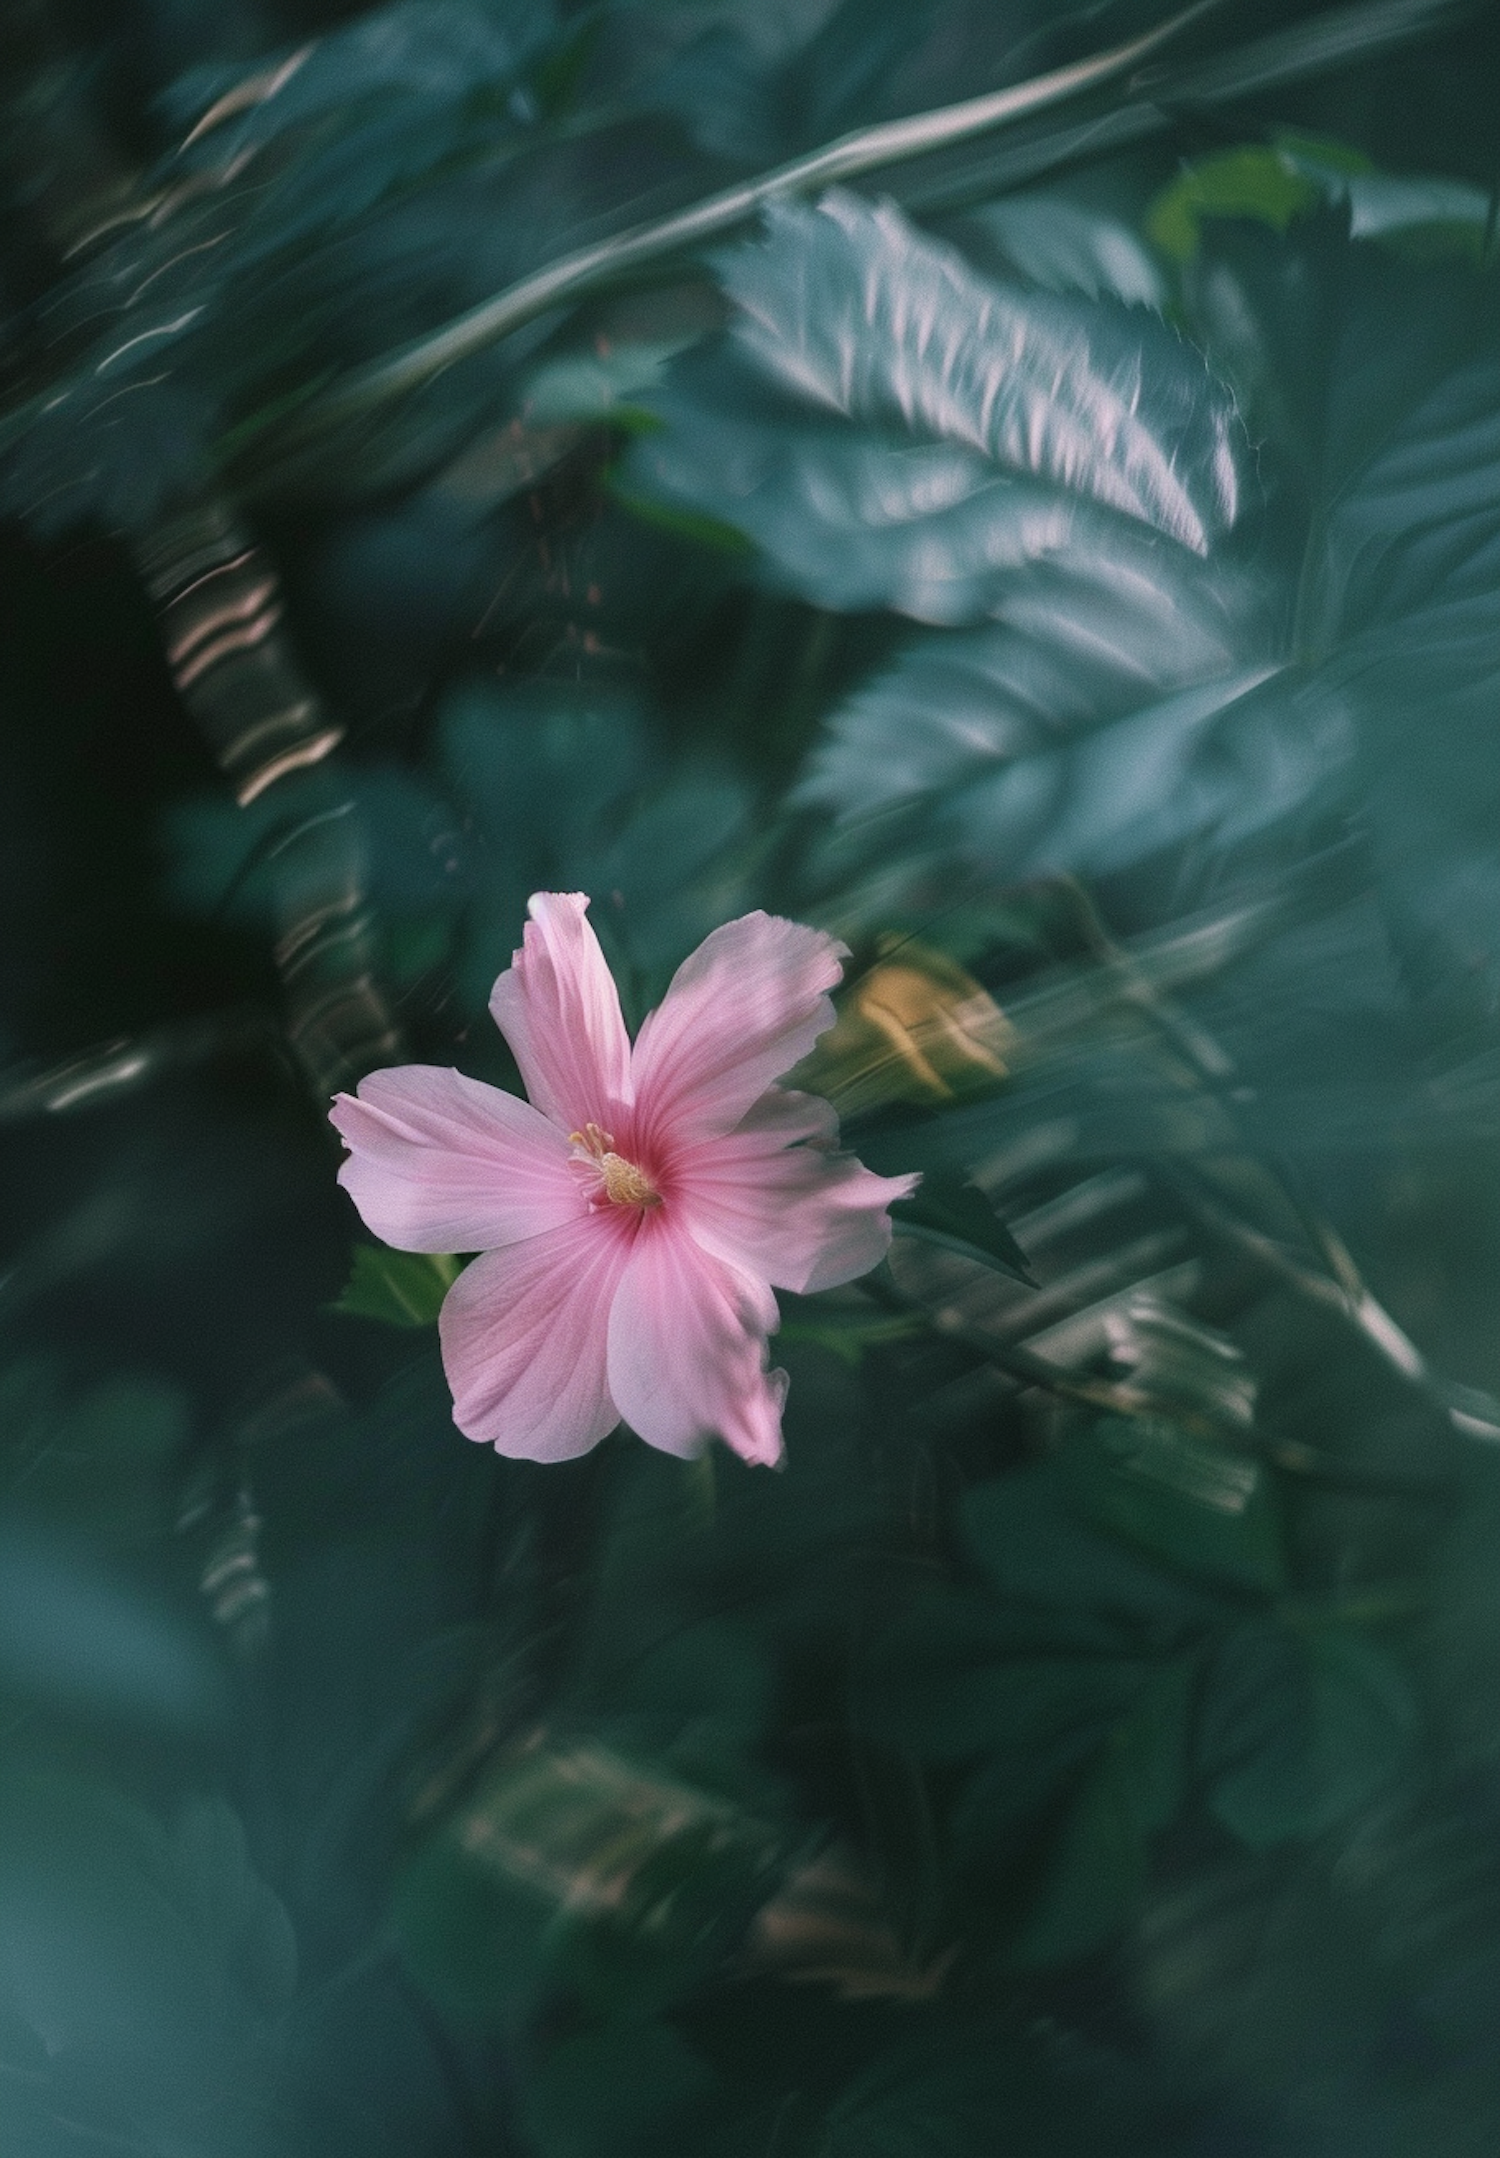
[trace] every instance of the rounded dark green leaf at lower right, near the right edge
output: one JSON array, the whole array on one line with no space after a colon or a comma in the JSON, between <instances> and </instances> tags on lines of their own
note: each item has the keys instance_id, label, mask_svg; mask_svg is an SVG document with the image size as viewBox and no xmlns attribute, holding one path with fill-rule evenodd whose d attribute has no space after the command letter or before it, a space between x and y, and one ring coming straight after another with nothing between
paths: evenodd
<instances>
[{"instance_id":1,"label":"rounded dark green leaf at lower right, near the right edge","mask_svg":"<svg viewBox=\"0 0 1500 2158\"><path fill-rule=\"evenodd\" d=\"M1412 1688L1368 1631L1265 1623L1215 1655L1198 1770L1224 1826L1267 1849L1358 1815L1401 1776L1416 1737Z\"/></svg>"}]
</instances>

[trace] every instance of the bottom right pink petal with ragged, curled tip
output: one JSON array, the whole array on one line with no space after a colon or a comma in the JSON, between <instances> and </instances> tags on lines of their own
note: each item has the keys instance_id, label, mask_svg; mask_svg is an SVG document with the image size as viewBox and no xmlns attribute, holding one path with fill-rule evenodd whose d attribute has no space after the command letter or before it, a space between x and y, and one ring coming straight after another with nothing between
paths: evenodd
<instances>
[{"instance_id":1,"label":"bottom right pink petal with ragged, curled tip","mask_svg":"<svg viewBox=\"0 0 1500 2158\"><path fill-rule=\"evenodd\" d=\"M771 1293L665 1219L647 1219L609 1314L609 1392L647 1446L695 1454L714 1433L781 1459L786 1372L766 1370Z\"/></svg>"}]
</instances>

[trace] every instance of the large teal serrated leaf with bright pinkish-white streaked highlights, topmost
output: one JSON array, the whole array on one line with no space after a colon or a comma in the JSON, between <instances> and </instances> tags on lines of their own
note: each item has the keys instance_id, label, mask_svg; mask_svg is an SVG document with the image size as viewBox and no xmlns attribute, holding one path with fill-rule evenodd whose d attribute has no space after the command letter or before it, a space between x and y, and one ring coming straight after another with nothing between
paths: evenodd
<instances>
[{"instance_id":1,"label":"large teal serrated leaf with bright pinkish-white streaked highlights, topmost","mask_svg":"<svg viewBox=\"0 0 1500 2158\"><path fill-rule=\"evenodd\" d=\"M729 345L673 369L626 486L740 527L814 604L973 622L1027 563L1204 555L1235 520L1228 406L1148 317L993 285L846 194L721 274Z\"/></svg>"}]
</instances>

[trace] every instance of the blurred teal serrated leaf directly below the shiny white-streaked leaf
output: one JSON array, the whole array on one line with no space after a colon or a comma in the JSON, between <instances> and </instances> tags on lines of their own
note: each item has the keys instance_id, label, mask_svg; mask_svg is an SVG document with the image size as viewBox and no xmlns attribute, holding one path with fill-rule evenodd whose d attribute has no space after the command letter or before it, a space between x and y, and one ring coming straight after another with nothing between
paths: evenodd
<instances>
[{"instance_id":1,"label":"blurred teal serrated leaf directly below the shiny white-streaked leaf","mask_svg":"<svg viewBox=\"0 0 1500 2158\"><path fill-rule=\"evenodd\" d=\"M1103 878L1310 820L1349 760L1342 710L1263 663L1217 671L1226 654L1204 650L1168 581L1140 578L1146 596L1120 622L1062 581L1038 585L1025 630L917 645L859 691L799 790L848 833L829 861L904 852L909 878L952 857ZM1157 611L1176 619L1159 630ZM1215 671L1178 686L1204 660Z\"/></svg>"}]
</instances>

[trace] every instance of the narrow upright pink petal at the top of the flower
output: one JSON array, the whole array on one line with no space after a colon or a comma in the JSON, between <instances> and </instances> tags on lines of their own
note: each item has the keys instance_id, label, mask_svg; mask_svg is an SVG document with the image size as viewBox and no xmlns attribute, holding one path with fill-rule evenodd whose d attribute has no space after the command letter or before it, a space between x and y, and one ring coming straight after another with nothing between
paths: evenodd
<instances>
[{"instance_id":1,"label":"narrow upright pink petal at the top of the flower","mask_svg":"<svg viewBox=\"0 0 1500 2158\"><path fill-rule=\"evenodd\" d=\"M527 1094L563 1131L613 1131L630 1103L630 1038L581 891L535 891L520 952L490 993ZM613 1120L613 1122L611 1122Z\"/></svg>"}]
</instances>

